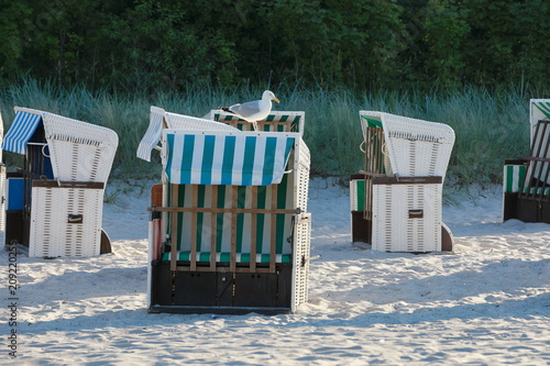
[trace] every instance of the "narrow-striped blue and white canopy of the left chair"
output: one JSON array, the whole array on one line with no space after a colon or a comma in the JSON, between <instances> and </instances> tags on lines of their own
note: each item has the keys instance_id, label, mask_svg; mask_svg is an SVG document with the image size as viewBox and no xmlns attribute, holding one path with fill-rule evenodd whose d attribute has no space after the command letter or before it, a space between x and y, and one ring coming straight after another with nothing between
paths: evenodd
<instances>
[{"instance_id":1,"label":"narrow-striped blue and white canopy of the left chair","mask_svg":"<svg viewBox=\"0 0 550 366\"><path fill-rule=\"evenodd\" d=\"M31 140L41 121L42 115L40 114L16 110L15 119L2 142L2 149L24 155L26 143Z\"/></svg>"}]
</instances>

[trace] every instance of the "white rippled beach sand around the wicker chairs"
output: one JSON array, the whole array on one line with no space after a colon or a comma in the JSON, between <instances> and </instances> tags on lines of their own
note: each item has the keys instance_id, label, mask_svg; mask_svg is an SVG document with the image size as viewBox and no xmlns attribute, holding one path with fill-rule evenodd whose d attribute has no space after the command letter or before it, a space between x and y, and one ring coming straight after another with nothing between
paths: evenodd
<instances>
[{"instance_id":1,"label":"white rippled beach sand around the wicker chairs","mask_svg":"<svg viewBox=\"0 0 550 366\"><path fill-rule=\"evenodd\" d=\"M112 255L18 257L15 359L1 252L0 364L550 364L550 225L502 223L498 188L447 193L453 253L380 253L351 244L348 190L312 180L309 302L266 317L147 313L148 191L121 192Z\"/></svg>"}]
</instances>

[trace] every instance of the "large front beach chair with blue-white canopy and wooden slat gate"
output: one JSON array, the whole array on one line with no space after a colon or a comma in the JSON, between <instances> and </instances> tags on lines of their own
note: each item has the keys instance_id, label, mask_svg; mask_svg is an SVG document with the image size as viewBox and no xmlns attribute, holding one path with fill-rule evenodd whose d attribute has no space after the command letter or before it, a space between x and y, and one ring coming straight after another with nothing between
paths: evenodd
<instances>
[{"instance_id":1,"label":"large front beach chair with blue-white canopy and wooden slat gate","mask_svg":"<svg viewBox=\"0 0 550 366\"><path fill-rule=\"evenodd\" d=\"M309 151L299 133L219 123L208 130L210 120L167 112L162 119L182 124L161 134L163 184L152 188L150 208L148 310L296 311L307 301L310 240Z\"/></svg>"}]
</instances>

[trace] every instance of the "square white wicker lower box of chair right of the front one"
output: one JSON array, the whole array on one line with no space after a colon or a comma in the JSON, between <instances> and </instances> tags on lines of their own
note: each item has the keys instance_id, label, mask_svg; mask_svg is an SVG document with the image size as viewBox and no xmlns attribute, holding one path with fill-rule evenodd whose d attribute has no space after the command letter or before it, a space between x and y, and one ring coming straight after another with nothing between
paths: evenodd
<instances>
[{"instance_id":1,"label":"square white wicker lower box of chair right of the front one","mask_svg":"<svg viewBox=\"0 0 550 366\"><path fill-rule=\"evenodd\" d=\"M441 251L441 193L440 184L373 185L373 251Z\"/></svg>"}]
</instances>

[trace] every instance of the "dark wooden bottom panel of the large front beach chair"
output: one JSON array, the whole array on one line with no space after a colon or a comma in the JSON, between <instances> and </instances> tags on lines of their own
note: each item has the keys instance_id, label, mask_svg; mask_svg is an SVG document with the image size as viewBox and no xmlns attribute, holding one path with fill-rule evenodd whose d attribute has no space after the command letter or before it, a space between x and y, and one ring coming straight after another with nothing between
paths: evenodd
<instances>
[{"instance_id":1,"label":"dark wooden bottom panel of the large front beach chair","mask_svg":"<svg viewBox=\"0 0 550 366\"><path fill-rule=\"evenodd\" d=\"M186 263L179 263L178 266ZM151 312L288 312L290 265L275 273L170 271L169 262L152 264Z\"/></svg>"}]
</instances>

